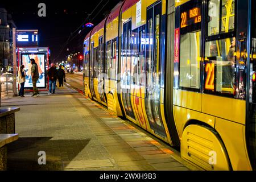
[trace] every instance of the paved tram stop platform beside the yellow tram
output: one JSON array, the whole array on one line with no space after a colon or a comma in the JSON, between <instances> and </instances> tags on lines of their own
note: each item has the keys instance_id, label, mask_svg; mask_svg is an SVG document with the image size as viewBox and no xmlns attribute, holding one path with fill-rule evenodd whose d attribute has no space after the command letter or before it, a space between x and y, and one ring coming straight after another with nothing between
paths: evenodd
<instances>
[{"instance_id":1,"label":"paved tram stop platform beside the yellow tram","mask_svg":"<svg viewBox=\"0 0 256 182\"><path fill-rule=\"evenodd\" d=\"M179 151L65 85L56 94L27 93L1 106L20 107L7 170L198 170ZM46 164L40 165L42 151Z\"/></svg>"}]
</instances>

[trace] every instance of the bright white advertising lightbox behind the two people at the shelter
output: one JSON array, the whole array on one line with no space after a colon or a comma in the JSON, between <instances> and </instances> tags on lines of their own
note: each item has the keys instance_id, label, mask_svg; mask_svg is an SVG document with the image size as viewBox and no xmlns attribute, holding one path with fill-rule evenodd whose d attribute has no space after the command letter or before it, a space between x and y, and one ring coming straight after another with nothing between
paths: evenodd
<instances>
[{"instance_id":1,"label":"bright white advertising lightbox behind the two people at the shelter","mask_svg":"<svg viewBox=\"0 0 256 182\"><path fill-rule=\"evenodd\" d=\"M26 73L26 82L24 88L33 88L32 78L31 78L31 61L30 59L35 59L38 65L39 79L36 82L38 88L46 88L46 55L44 53L38 54L22 54L22 63L24 65L24 70Z\"/></svg>"}]
</instances>

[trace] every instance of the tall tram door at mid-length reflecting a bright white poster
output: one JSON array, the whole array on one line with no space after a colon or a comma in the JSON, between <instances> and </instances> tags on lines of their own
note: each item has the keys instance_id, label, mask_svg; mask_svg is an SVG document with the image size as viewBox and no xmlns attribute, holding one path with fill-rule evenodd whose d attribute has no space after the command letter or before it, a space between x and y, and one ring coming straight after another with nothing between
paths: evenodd
<instances>
[{"instance_id":1,"label":"tall tram door at mid-length reflecting a bright white poster","mask_svg":"<svg viewBox=\"0 0 256 182\"><path fill-rule=\"evenodd\" d=\"M126 115L135 120L131 106L131 20L123 24L121 51L121 91Z\"/></svg>"}]
</instances>

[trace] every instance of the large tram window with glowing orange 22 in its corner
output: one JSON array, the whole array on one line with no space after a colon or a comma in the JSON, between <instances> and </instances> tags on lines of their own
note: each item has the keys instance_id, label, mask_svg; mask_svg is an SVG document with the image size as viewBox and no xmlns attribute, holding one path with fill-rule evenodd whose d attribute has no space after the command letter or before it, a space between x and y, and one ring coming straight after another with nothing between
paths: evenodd
<instances>
[{"instance_id":1,"label":"large tram window with glowing orange 22 in its corner","mask_svg":"<svg viewBox=\"0 0 256 182\"><path fill-rule=\"evenodd\" d=\"M205 45L205 92L234 94L236 38L207 42Z\"/></svg>"}]
</instances>

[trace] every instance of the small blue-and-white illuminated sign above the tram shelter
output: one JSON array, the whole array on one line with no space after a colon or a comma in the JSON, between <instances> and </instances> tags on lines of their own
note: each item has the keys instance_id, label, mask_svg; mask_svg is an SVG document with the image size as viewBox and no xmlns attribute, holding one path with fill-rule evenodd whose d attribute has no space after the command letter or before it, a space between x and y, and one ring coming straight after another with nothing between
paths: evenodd
<instances>
[{"instance_id":1,"label":"small blue-and-white illuminated sign above the tram shelter","mask_svg":"<svg viewBox=\"0 0 256 182\"><path fill-rule=\"evenodd\" d=\"M38 46L38 31L16 31L17 47L36 47Z\"/></svg>"}]
</instances>

